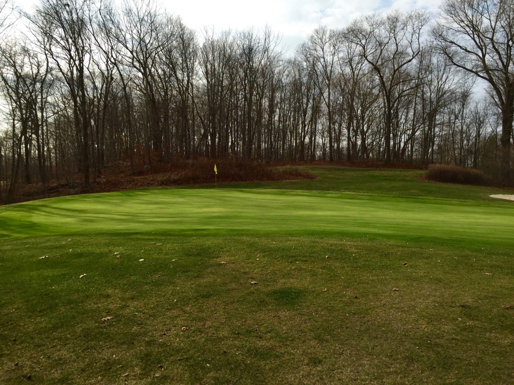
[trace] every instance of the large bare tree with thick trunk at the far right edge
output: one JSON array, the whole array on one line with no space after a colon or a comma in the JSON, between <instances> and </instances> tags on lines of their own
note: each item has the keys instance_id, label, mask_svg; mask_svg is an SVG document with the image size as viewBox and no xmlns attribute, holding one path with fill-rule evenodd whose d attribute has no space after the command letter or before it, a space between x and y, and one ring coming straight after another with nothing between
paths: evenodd
<instances>
[{"instance_id":1,"label":"large bare tree with thick trunk at the far right edge","mask_svg":"<svg viewBox=\"0 0 514 385\"><path fill-rule=\"evenodd\" d=\"M514 4L508 0L447 0L433 34L453 65L490 85L502 113L501 179L511 183L514 115Z\"/></svg>"}]
</instances>

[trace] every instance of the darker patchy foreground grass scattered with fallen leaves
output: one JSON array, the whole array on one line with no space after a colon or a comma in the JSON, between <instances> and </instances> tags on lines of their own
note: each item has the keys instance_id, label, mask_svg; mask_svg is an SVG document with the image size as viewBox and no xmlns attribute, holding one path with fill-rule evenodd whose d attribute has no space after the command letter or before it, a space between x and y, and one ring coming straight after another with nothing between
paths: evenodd
<instances>
[{"instance_id":1,"label":"darker patchy foreground grass scattered with fallen leaves","mask_svg":"<svg viewBox=\"0 0 514 385\"><path fill-rule=\"evenodd\" d=\"M10 241L0 378L509 383L511 267L510 250L368 237Z\"/></svg>"}]
</instances>

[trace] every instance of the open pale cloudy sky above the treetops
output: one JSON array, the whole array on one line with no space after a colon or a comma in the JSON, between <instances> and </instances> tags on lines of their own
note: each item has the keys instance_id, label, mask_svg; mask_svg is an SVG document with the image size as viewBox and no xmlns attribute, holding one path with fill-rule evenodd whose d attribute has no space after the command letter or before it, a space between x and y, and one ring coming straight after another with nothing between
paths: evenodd
<instances>
[{"instance_id":1,"label":"open pale cloudy sky above the treetops","mask_svg":"<svg viewBox=\"0 0 514 385\"><path fill-rule=\"evenodd\" d=\"M436 13L442 0L162 0L199 33L204 27L242 30L271 27L292 51L319 25L345 27L363 14L392 9L425 9Z\"/></svg>"}]
</instances>

